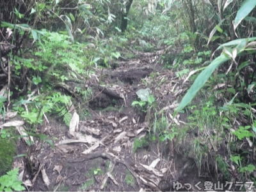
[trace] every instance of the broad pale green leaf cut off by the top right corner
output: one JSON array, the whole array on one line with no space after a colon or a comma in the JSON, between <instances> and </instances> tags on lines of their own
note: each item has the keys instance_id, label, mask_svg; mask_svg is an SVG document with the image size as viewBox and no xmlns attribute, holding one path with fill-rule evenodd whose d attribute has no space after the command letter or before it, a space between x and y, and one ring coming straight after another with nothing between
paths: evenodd
<instances>
[{"instance_id":1,"label":"broad pale green leaf cut off by the top right corner","mask_svg":"<svg viewBox=\"0 0 256 192\"><path fill-rule=\"evenodd\" d=\"M235 22L234 22L234 31L236 31L237 26L241 23L241 21L246 17L256 6L255 0L244 0L241 5L241 8L237 11Z\"/></svg>"}]
</instances>

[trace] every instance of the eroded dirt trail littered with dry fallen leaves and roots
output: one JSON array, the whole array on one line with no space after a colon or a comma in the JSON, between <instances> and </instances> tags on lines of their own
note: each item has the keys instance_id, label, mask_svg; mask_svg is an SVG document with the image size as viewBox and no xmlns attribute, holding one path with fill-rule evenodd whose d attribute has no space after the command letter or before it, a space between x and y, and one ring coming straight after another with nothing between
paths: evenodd
<instances>
[{"instance_id":1,"label":"eroded dirt trail littered with dry fallen leaves and roots","mask_svg":"<svg viewBox=\"0 0 256 192\"><path fill-rule=\"evenodd\" d=\"M40 128L54 138L54 149L43 144L35 152L49 186L38 174L30 191L174 191L174 181L182 185L175 186L176 191L188 191L189 183L190 191L200 191L195 184L209 178L198 177L193 159L180 154L175 140L138 142L154 138L154 122L161 115L172 122L175 101L189 87L173 71L162 70L162 53L138 53L136 59L116 63L115 70L96 70L87 85L93 90L90 116L80 117L73 134L54 119ZM147 88L155 104L147 103L147 110L132 107L132 101L139 101L136 92ZM77 108L77 114L81 110ZM186 114L172 123L186 124Z\"/></svg>"}]
</instances>

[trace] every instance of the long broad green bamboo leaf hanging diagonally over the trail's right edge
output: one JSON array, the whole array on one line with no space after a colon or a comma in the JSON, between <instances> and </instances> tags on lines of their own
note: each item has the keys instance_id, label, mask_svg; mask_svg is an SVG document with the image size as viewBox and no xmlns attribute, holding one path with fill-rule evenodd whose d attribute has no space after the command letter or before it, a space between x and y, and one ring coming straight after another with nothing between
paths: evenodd
<instances>
[{"instance_id":1,"label":"long broad green bamboo leaf hanging diagonally over the trail's right edge","mask_svg":"<svg viewBox=\"0 0 256 192\"><path fill-rule=\"evenodd\" d=\"M175 112L173 114L173 117L175 117L180 110L182 110L184 107L186 107L186 105L188 105L188 103L191 100L193 100L193 98L196 95L196 92L198 92L199 89L201 89L201 87L205 84L205 82L207 82L207 80L211 76L212 72L216 68L218 68L218 66L220 66L223 63L225 63L226 61L228 61L228 58L225 57L225 55L220 55L219 57L214 59L214 61L212 61L212 63L209 64L209 66L207 66L207 68L205 68L205 70L202 71L198 75L198 77L196 78L196 80L193 83L193 85L189 88L189 90L186 93L186 95L182 98L182 101L180 102L179 107L176 108L176 110L175 110Z\"/></svg>"}]
</instances>

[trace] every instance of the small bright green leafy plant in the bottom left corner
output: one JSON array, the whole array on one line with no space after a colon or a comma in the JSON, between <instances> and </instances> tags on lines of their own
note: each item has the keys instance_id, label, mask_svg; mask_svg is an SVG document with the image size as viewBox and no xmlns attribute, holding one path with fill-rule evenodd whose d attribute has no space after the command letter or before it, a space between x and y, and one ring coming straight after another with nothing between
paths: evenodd
<instances>
[{"instance_id":1,"label":"small bright green leafy plant in the bottom left corner","mask_svg":"<svg viewBox=\"0 0 256 192\"><path fill-rule=\"evenodd\" d=\"M25 188L18 180L19 168L15 168L6 175L0 177L0 191L23 191Z\"/></svg>"}]
</instances>

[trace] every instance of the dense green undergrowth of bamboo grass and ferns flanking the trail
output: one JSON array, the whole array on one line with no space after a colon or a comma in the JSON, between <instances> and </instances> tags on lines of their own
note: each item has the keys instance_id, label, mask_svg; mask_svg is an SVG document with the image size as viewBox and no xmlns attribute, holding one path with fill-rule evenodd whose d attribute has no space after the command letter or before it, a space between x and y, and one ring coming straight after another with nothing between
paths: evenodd
<instances>
[{"instance_id":1,"label":"dense green undergrowth of bamboo grass and ferns flanking the trail","mask_svg":"<svg viewBox=\"0 0 256 192\"><path fill-rule=\"evenodd\" d=\"M160 112L159 100L143 89L146 97L137 93L139 99L132 107L144 115L150 136L135 138L133 152L155 140L175 142L178 153L195 159L199 175L213 167L221 179L232 180L239 172L239 179L256 182L254 0L44 0L0 5L4 32L0 41L6 41L1 46L9 46L0 55L1 78L8 82L0 96L0 112L3 121L7 108L18 112L26 122L29 147L36 143L31 138L53 147L52 138L38 133L45 114L69 126L74 110L88 108L95 96L89 80L99 85L102 80L95 75L97 71L115 69L118 59L136 58L138 52L164 49L156 64L174 71L177 79L189 86L185 96L172 101L179 103L172 118L184 114L186 123L168 121L170 115ZM141 82L150 87L156 77L152 73L151 81ZM0 191L17 190L17 179L10 186L3 181L17 175L17 170L8 172L15 153L14 136L0 130L0 175L7 173L0 177ZM35 149L28 150L28 161ZM92 169L90 174L99 175L102 170ZM125 182L134 185L129 172ZM93 183L88 180L81 189Z\"/></svg>"}]
</instances>

